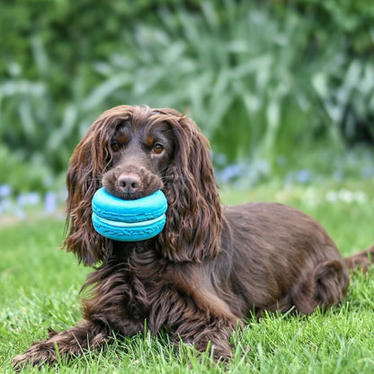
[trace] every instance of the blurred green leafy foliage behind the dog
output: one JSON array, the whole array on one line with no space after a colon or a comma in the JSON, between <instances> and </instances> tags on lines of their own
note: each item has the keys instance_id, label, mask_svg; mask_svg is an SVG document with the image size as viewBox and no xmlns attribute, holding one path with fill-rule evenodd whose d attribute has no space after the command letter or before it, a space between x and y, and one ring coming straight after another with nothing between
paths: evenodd
<instances>
[{"instance_id":1,"label":"blurred green leafy foliage behind the dog","mask_svg":"<svg viewBox=\"0 0 374 374\"><path fill-rule=\"evenodd\" d=\"M100 112L147 103L229 163L339 152L374 138L373 24L364 0L4 2L0 137L58 173Z\"/></svg>"}]
</instances>

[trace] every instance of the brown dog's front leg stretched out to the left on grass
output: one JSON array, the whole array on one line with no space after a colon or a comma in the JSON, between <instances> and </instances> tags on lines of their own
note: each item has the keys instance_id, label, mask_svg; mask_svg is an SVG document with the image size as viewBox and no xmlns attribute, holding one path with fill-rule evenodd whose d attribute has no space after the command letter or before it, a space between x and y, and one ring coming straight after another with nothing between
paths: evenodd
<instances>
[{"instance_id":1,"label":"brown dog's front leg stretched out to the left on grass","mask_svg":"<svg viewBox=\"0 0 374 374\"><path fill-rule=\"evenodd\" d=\"M83 302L84 319L67 331L49 333L13 359L15 370L53 364L110 343L113 333L136 334L144 330L144 316L132 316L124 306L129 303L130 287L126 270L103 266L90 274L87 285L94 287Z\"/></svg>"}]
</instances>

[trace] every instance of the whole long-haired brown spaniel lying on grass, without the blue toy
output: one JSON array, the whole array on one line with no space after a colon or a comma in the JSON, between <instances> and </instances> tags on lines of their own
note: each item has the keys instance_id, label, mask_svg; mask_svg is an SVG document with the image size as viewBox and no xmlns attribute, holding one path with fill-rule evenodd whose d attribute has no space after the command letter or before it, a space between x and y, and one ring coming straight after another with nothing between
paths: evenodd
<instances>
[{"instance_id":1,"label":"whole long-haired brown spaniel lying on grass, without the blue toy","mask_svg":"<svg viewBox=\"0 0 374 374\"><path fill-rule=\"evenodd\" d=\"M168 201L161 234L115 242L94 231L91 200L102 185L121 199L158 189ZM348 268L367 269L374 247L343 260L313 218L280 204L222 207L209 143L178 111L119 106L76 147L67 171L67 251L99 263L85 283L84 319L13 360L16 370L100 348L112 334L163 326L174 342L229 359L229 334L264 310L312 313L339 303ZM56 352L58 347L58 353Z\"/></svg>"}]
</instances>

